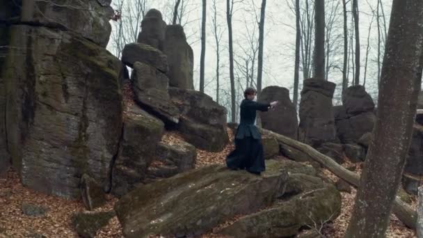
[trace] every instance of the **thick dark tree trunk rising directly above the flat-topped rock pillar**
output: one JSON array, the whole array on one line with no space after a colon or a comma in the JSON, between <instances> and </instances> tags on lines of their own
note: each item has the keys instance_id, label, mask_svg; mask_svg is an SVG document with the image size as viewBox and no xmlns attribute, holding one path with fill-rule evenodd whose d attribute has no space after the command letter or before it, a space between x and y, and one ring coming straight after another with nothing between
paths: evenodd
<instances>
[{"instance_id":1,"label":"thick dark tree trunk rising directly above the flat-topped rock pillar","mask_svg":"<svg viewBox=\"0 0 423 238\"><path fill-rule=\"evenodd\" d=\"M315 0L313 77L325 79L325 1Z\"/></svg>"}]
</instances>

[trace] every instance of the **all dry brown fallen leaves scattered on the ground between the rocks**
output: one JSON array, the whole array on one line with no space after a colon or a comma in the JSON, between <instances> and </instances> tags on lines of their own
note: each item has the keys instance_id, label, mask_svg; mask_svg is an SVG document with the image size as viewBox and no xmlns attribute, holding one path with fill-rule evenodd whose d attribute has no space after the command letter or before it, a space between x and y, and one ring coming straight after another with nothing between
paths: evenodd
<instances>
[{"instance_id":1,"label":"all dry brown fallen leaves scattered on the ground between the rocks","mask_svg":"<svg viewBox=\"0 0 423 238\"><path fill-rule=\"evenodd\" d=\"M123 90L125 90L125 87ZM124 98L125 97L127 97L125 105L133 103L131 92L124 93ZM195 165L196 168L207 166L209 164L225 164L226 155L234 149L232 131L228 130L228 134L230 136L230 143L228 143L223 151L213 153L197 150L198 157L197 164ZM177 132L166 132L162 141L172 144L177 143L178 141L184 141L184 139ZM347 168L354 166L356 167L355 172L359 174L361 173L361 166L359 164L346 162L343 166ZM335 175L333 175L333 173L330 173L330 171L326 169L322 169L322 172L334 182L338 179ZM351 218L356 189L353 189L351 194L341 194L342 212L340 216L335 219L333 224L327 225L326 228L324 228L324 235L326 235L326 237L343 237L348 226L349 219ZM108 198L109 203L107 203L104 207L96 209L97 212L113 209L113 205L117 199L112 196L109 196ZM22 203L31 203L48 207L49 212L47 212L47 216L42 218L25 216L22 214L21 210ZM74 230L72 230L70 217L76 212L85 211L80 201L65 200L55 196L47 196L23 187L19 181L17 173L12 170L3 175L3 177L0 177L0 207L0 233L1 231L6 230L3 232L6 237L26 237L32 233L40 233L46 237L77 237L77 234ZM234 221L237 221L240 217L241 216L236 216L229 221L225 221L225 223L222 223L214 228L213 232L207 235L202 235L202 238L223 237L222 235L214 234L214 232L218 232L218 230L221 230L225 226L234 223ZM97 237L123 237L122 227L120 226L116 216L111 219L109 225L106 225L106 227L97 232ZM410 238L416 236L413 230L406 228L396 216L392 215L387 237Z\"/></svg>"}]
</instances>

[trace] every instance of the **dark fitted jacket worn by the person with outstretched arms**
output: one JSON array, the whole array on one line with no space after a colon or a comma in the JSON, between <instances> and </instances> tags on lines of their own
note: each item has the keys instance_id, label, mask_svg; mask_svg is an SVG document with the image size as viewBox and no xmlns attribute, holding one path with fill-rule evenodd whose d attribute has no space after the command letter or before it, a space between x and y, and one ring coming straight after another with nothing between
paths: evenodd
<instances>
[{"instance_id":1,"label":"dark fitted jacket worn by the person with outstretched arms","mask_svg":"<svg viewBox=\"0 0 423 238\"><path fill-rule=\"evenodd\" d=\"M261 139L259 130L254 125L256 111L267 111L270 104L254 102L253 100L242 100L240 116L241 120L237 129L235 138L242 139L245 137L253 137L257 140Z\"/></svg>"}]
</instances>

